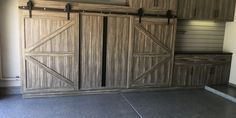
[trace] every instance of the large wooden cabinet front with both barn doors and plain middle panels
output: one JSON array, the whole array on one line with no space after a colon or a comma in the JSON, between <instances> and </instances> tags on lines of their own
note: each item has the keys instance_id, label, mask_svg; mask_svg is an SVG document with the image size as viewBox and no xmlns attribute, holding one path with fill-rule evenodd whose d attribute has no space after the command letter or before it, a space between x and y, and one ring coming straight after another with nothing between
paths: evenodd
<instances>
[{"instance_id":1,"label":"large wooden cabinet front with both barn doors and plain middle panels","mask_svg":"<svg viewBox=\"0 0 236 118\"><path fill-rule=\"evenodd\" d=\"M47 9L21 11L24 96L171 86L176 19Z\"/></svg>"}]
</instances>

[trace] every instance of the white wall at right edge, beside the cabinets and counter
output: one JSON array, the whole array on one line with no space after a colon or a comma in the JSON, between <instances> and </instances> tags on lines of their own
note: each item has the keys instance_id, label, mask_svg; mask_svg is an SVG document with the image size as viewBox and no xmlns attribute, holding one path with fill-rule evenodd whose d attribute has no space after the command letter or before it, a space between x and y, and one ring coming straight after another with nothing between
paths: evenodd
<instances>
[{"instance_id":1,"label":"white wall at right edge, beside the cabinets and counter","mask_svg":"<svg viewBox=\"0 0 236 118\"><path fill-rule=\"evenodd\" d=\"M236 85L236 14L234 22L228 22L226 24L224 51L233 53L230 83Z\"/></svg>"}]
</instances>

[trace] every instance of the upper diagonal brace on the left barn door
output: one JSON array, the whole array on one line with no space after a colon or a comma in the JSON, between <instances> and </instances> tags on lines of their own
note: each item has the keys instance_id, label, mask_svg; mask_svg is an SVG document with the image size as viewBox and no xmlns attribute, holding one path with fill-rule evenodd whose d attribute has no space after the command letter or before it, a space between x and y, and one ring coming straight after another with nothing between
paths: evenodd
<instances>
[{"instance_id":1,"label":"upper diagonal brace on the left barn door","mask_svg":"<svg viewBox=\"0 0 236 118\"><path fill-rule=\"evenodd\" d=\"M69 23L61 26L56 31L54 31L54 32L50 33L49 35L43 37L42 39L39 40L39 42L35 43L33 46L31 46L28 49L26 49L27 50L26 52L31 52L35 48L37 48L37 47L41 46L42 44L46 43L47 41L49 41L53 37L57 36L61 32L65 31L66 29L68 29L69 27L71 27L74 24L75 24L75 22L72 21L72 22L69 22Z\"/></svg>"}]
</instances>

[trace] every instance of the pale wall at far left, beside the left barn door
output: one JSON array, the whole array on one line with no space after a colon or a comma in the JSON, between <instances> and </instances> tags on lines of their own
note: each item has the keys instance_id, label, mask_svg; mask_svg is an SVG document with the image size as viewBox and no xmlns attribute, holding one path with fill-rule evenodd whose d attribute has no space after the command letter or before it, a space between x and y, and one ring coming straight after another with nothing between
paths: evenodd
<instances>
[{"instance_id":1,"label":"pale wall at far left, beside the left barn door","mask_svg":"<svg viewBox=\"0 0 236 118\"><path fill-rule=\"evenodd\" d=\"M0 0L0 40L2 80L0 86L18 86L20 76L19 11L18 0Z\"/></svg>"}]
</instances>

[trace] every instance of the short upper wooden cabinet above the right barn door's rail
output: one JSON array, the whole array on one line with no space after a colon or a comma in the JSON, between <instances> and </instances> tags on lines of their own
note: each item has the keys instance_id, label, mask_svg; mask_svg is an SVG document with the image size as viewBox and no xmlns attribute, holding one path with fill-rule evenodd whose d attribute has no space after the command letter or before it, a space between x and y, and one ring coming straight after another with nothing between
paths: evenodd
<instances>
[{"instance_id":1,"label":"short upper wooden cabinet above the right barn door's rail","mask_svg":"<svg viewBox=\"0 0 236 118\"><path fill-rule=\"evenodd\" d=\"M176 11L177 0L129 0L129 5L132 8L149 8Z\"/></svg>"}]
</instances>

